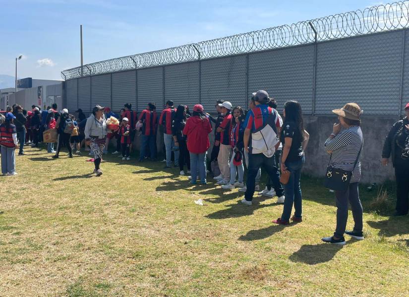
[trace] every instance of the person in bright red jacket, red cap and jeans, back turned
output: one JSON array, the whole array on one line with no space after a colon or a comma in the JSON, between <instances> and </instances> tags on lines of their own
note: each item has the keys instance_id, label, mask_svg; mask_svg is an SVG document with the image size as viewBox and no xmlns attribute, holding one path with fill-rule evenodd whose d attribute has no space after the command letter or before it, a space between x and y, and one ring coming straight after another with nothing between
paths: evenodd
<instances>
[{"instance_id":1,"label":"person in bright red jacket, red cap and jeans, back turned","mask_svg":"<svg viewBox=\"0 0 409 297\"><path fill-rule=\"evenodd\" d=\"M195 185L197 170L199 170L200 183L206 184L206 153L210 148L209 133L212 125L203 113L203 106L196 104L193 115L186 121L182 133L187 136L187 149L190 155L190 170L192 178L190 183Z\"/></svg>"}]
</instances>

